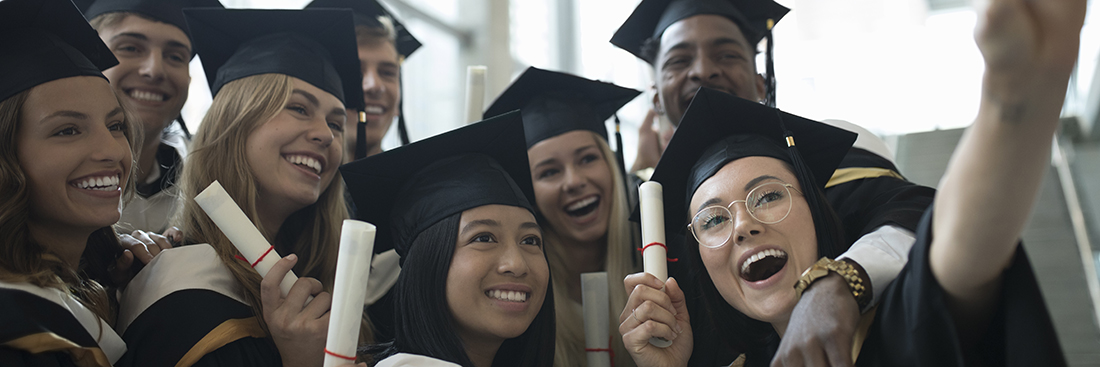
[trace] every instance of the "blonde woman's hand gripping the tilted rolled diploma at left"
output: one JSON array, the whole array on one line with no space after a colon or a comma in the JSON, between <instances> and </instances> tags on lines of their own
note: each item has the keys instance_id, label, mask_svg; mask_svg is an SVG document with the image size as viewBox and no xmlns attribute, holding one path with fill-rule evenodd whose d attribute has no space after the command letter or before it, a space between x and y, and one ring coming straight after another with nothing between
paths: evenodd
<instances>
[{"instance_id":1,"label":"blonde woman's hand gripping the tilted rolled diploma at left","mask_svg":"<svg viewBox=\"0 0 1100 367\"><path fill-rule=\"evenodd\" d=\"M298 257L294 254L276 260L260 282L264 322L283 358L283 366L320 366L324 360L332 294L322 291L323 287L317 279L301 278L283 297L279 283L297 263ZM310 296L315 298L306 304L306 298Z\"/></svg>"}]
</instances>

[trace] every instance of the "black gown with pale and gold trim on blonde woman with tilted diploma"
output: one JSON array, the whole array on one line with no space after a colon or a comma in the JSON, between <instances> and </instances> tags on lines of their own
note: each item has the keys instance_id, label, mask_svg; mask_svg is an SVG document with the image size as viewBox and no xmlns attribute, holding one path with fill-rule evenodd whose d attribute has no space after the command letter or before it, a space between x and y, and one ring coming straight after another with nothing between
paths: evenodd
<instances>
[{"instance_id":1,"label":"black gown with pale and gold trim on blonde woman with tilted diploma","mask_svg":"<svg viewBox=\"0 0 1100 367\"><path fill-rule=\"evenodd\" d=\"M161 253L123 292L119 330L130 351L116 366L280 366L242 299L209 245Z\"/></svg>"}]
</instances>

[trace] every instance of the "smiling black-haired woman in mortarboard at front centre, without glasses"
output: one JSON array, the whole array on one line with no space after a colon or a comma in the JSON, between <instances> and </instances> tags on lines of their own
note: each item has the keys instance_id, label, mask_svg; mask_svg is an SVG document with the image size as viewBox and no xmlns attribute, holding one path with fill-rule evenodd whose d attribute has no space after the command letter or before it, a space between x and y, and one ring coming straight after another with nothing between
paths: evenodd
<instances>
[{"instance_id":1,"label":"smiling black-haired woman in mortarboard at front centre, without glasses","mask_svg":"<svg viewBox=\"0 0 1100 367\"><path fill-rule=\"evenodd\" d=\"M341 167L402 257L377 366L553 364L553 291L518 113ZM441 301L443 300L443 301Z\"/></svg>"}]
</instances>

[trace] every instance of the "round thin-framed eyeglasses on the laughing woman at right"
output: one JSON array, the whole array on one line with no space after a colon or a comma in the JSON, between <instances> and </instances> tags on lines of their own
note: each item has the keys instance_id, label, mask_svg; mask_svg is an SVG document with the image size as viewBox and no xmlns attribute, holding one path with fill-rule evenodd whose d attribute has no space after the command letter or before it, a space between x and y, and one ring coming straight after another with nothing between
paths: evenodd
<instances>
[{"instance_id":1,"label":"round thin-framed eyeglasses on the laughing woman at right","mask_svg":"<svg viewBox=\"0 0 1100 367\"><path fill-rule=\"evenodd\" d=\"M734 215L730 208L744 202L749 215L763 224L776 224L787 219L791 213L791 190L802 194L791 184L768 182L749 191L745 200L734 200L728 205L711 205L703 208L692 218L688 227L695 241L707 248L718 248L729 241L734 234Z\"/></svg>"}]
</instances>

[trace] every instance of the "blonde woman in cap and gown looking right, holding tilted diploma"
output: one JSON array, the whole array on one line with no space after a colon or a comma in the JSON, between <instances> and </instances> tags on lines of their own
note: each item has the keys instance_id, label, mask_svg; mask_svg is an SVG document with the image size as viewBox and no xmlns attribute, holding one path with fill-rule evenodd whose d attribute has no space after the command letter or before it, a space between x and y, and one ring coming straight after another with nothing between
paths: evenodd
<instances>
[{"instance_id":1,"label":"blonde woman in cap and gown looking right, holding tilted diploma","mask_svg":"<svg viewBox=\"0 0 1100 367\"><path fill-rule=\"evenodd\" d=\"M323 359L340 223L344 101L362 101L342 10L187 10L215 94L182 177L176 225L123 294L124 366L312 366ZM323 27L311 26L323 24ZM279 254L261 279L191 200L215 180ZM296 254L296 255L294 255ZM302 276L285 297L289 267ZM277 279L275 279L277 278ZM320 281L318 281L320 279ZM316 297L306 304L309 296ZM363 327L364 335L370 329Z\"/></svg>"}]
</instances>

